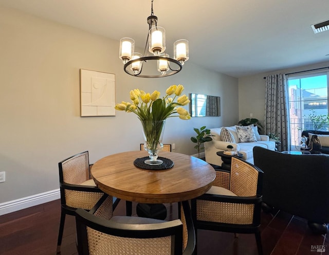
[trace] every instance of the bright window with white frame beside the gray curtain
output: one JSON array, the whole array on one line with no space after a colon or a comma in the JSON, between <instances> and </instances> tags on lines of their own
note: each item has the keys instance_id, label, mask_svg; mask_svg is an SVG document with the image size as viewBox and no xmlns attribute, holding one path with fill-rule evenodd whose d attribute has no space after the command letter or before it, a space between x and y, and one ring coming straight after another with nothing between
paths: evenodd
<instances>
[{"instance_id":1,"label":"bright window with white frame beside the gray curtain","mask_svg":"<svg viewBox=\"0 0 329 255\"><path fill-rule=\"evenodd\" d=\"M287 76L291 145L298 145L303 130L328 130L316 117L328 114L328 77L329 71Z\"/></svg>"}]
</instances>

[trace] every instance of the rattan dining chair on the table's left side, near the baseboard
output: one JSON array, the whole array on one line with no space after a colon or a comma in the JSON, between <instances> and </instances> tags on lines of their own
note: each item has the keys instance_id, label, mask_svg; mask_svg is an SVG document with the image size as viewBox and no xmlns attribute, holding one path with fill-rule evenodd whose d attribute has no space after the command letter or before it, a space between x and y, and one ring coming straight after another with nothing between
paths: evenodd
<instances>
[{"instance_id":1,"label":"rattan dining chair on the table's left side, near the baseboard","mask_svg":"<svg viewBox=\"0 0 329 255\"><path fill-rule=\"evenodd\" d=\"M57 253L60 253L65 216L75 215L77 208L90 210L103 196L103 192L98 189L94 180L90 177L88 151L76 154L58 163L60 176L61 193L61 221L58 233ZM108 208L112 214L120 199L109 197L115 201L113 206Z\"/></svg>"}]
</instances>

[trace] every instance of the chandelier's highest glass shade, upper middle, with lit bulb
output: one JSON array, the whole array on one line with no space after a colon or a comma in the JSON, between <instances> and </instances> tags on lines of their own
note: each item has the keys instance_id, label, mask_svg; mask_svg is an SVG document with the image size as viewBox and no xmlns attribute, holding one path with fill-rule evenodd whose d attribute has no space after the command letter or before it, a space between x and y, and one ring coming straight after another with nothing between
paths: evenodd
<instances>
[{"instance_id":1,"label":"chandelier's highest glass shade, upper middle, with lit bulb","mask_svg":"<svg viewBox=\"0 0 329 255\"><path fill-rule=\"evenodd\" d=\"M149 31L149 51L154 56L160 56L160 53L166 49L166 32L163 27L152 27Z\"/></svg>"}]
</instances>

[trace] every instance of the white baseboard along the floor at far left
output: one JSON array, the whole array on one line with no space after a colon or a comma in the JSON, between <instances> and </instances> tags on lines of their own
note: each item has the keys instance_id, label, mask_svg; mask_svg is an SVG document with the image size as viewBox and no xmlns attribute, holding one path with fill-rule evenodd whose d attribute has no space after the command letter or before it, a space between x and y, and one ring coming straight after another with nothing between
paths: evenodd
<instances>
[{"instance_id":1,"label":"white baseboard along the floor at far left","mask_svg":"<svg viewBox=\"0 0 329 255\"><path fill-rule=\"evenodd\" d=\"M40 194L27 196L0 204L0 215L19 211L28 207L41 205L56 199L60 199L60 189L50 190Z\"/></svg>"}]
</instances>

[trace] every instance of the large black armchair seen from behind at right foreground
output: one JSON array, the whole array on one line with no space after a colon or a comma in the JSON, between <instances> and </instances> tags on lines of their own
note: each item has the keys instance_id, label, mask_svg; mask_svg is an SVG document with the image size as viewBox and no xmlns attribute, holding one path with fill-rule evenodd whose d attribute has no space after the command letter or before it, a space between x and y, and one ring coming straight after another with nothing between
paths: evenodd
<instances>
[{"instance_id":1,"label":"large black armchair seen from behind at right foreground","mask_svg":"<svg viewBox=\"0 0 329 255\"><path fill-rule=\"evenodd\" d=\"M263 203L305 218L316 233L329 223L329 155L290 155L253 148L254 165L264 172Z\"/></svg>"}]
</instances>

